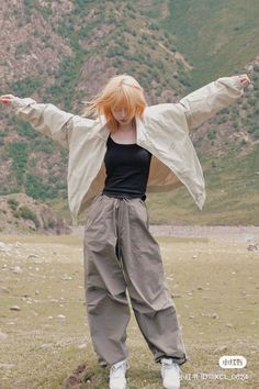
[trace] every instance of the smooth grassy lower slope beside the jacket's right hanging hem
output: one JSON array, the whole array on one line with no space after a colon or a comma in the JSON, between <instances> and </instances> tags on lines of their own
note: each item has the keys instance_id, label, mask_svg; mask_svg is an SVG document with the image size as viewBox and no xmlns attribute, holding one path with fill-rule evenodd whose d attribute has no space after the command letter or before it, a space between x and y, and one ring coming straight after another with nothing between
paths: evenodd
<instances>
[{"instance_id":1,"label":"smooth grassy lower slope beside the jacket's right hanging hem","mask_svg":"<svg viewBox=\"0 0 259 389\"><path fill-rule=\"evenodd\" d=\"M245 157L232 152L225 157L202 158L207 193L202 212L185 188L171 193L149 193L151 223L258 225L258 152L257 146ZM215 168L211 168L212 160L216 162Z\"/></svg>"}]
</instances>

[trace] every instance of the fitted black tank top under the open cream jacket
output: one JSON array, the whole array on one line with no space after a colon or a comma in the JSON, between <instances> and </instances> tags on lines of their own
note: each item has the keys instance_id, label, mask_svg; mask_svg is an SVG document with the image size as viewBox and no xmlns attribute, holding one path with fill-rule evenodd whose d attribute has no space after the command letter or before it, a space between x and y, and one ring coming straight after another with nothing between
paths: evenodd
<instances>
[{"instance_id":1,"label":"fitted black tank top under the open cream jacket","mask_svg":"<svg viewBox=\"0 0 259 389\"><path fill-rule=\"evenodd\" d=\"M116 143L111 136L106 146L104 156L106 179L102 193L145 200L151 154L136 143Z\"/></svg>"}]
</instances>

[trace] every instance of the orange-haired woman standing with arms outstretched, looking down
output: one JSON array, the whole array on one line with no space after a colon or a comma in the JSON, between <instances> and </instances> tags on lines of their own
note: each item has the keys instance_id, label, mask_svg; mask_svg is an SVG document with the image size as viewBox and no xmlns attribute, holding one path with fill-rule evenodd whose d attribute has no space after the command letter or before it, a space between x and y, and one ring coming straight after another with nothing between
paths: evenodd
<instances>
[{"instance_id":1,"label":"orange-haired woman standing with arms outstretched, looking down","mask_svg":"<svg viewBox=\"0 0 259 389\"><path fill-rule=\"evenodd\" d=\"M161 363L165 388L180 388L187 360L176 308L164 281L159 246L148 227L146 191L185 185L201 209L204 179L189 131L233 103L246 75L221 78L180 100L147 107L139 84L115 76L89 103L90 120L12 95L0 98L36 130L69 147L74 219L91 202L85 230L85 284L94 351L109 365L110 388L126 388L126 290L138 326Z\"/></svg>"}]
</instances>

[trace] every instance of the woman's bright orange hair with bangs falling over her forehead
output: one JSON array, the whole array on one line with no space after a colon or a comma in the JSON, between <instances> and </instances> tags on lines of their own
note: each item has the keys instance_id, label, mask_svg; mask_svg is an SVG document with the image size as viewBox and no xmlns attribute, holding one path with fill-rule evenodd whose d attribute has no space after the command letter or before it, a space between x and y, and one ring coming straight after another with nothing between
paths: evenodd
<instances>
[{"instance_id":1,"label":"woman's bright orange hair with bangs falling over her forehead","mask_svg":"<svg viewBox=\"0 0 259 389\"><path fill-rule=\"evenodd\" d=\"M112 77L105 87L91 100L83 116L89 114L104 114L111 132L119 130L119 123L114 119L111 107L119 109L125 107L128 115L135 112L135 116L143 120L143 113L147 105L140 85L132 76L121 75Z\"/></svg>"}]
</instances>

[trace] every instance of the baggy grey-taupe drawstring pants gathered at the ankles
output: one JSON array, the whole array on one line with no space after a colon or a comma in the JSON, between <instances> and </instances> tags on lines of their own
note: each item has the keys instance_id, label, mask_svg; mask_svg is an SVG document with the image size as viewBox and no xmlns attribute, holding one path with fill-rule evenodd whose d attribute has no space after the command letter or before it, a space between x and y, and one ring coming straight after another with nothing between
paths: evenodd
<instances>
[{"instance_id":1,"label":"baggy grey-taupe drawstring pants gathered at the ankles","mask_svg":"<svg viewBox=\"0 0 259 389\"><path fill-rule=\"evenodd\" d=\"M100 365L127 357L126 290L155 360L171 357L183 364L181 331L145 202L98 194L89 208L83 248L88 320Z\"/></svg>"}]
</instances>

